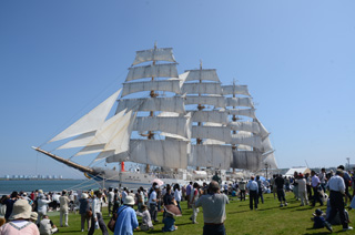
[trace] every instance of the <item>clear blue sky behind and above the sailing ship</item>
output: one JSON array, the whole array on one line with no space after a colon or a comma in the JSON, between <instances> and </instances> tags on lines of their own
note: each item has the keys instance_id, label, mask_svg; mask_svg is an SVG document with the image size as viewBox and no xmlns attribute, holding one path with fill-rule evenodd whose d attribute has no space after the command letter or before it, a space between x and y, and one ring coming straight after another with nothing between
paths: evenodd
<instances>
[{"instance_id":1,"label":"clear blue sky behind and above the sailing ship","mask_svg":"<svg viewBox=\"0 0 355 235\"><path fill-rule=\"evenodd\" d=\"M355 163L353 0L1 0L0 176L69 168L31 149L122 86L135 51L247 84L280 167ZM78 160L79 162L81 160ZM306 162L305 162L306 161Z\"/></svg>"}]
</instances>

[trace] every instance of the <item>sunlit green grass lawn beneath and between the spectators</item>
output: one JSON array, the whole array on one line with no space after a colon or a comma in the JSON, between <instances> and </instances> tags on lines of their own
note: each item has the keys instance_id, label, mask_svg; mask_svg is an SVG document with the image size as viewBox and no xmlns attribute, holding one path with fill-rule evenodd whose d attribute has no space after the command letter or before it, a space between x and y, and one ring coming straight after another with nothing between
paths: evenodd
<instances>
[{"instance_id":1,"label":"sunlit green grass lawn beneath and between the spectators","mask_svg":"<svg viewBox=\"0 0 355 235\"><path fill-rule=\"evenodd\" d=\"M286 194L288 201L288 206L280 207L278 201L274 200L272 194L264 195L265 203L258 205L257 211L251 211L248 208L248 201L241 202L239 200L231 200L230 204L226 206L226 221L225 228L226 234L243 234L243 235L301 235L301 234L329 234L326 228L313 229L313 222L311 222L312 213L315 208L326 210L326 206L316 207L312 206L300 206L300 201L294 200L292 193ZM203 213L200 210L197 222L199 224L192 224L189 219L192 214L192 210L186 208L186 203L182 202L183 216L176 217L175 225L179 229L172 232L173 234L202 234L203 228ZM354 219L354 210L349 211L351 222ZM162 214L159 213L159 221L162 221ZM54 224L59 225L59 216L55 214L50 214L51 219ZM109 222L109 216L106 210L104 208L103 217L105 223ZM352 226L353 223L349 225ZM160 234L162 223L154 225L154 231L141 232L136 231L134 234ZM80 215L70 214L69 215L69 227L59 227L59 234L87 234L80 232ZM333 226L333 233L342 232L342 225ZM98 229L95 235L101 234ZM113 234L110 232L110 234ZM355 231L349 231L342 234L355 234Z\"/></svg>"}]
</instances>

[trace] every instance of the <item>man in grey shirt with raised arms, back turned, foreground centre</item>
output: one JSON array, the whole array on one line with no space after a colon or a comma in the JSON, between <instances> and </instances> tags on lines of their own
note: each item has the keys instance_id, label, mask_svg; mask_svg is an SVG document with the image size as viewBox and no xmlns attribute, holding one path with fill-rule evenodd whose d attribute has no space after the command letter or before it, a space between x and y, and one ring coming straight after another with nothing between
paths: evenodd
<instances>
[{"instance_id":1,"label":"man in grey shirt with raised arms, back turned, foreground centre","mask_svg":"<svg viewBox=\"0 0 355 235\"><path fill-rule=\"evenodd\" d=\"M225 205L229 203L229 197L220 193L219 183L212 181L209 194L202 195L194 204L195 207L203 208L203 235L225 235Z\"/></svg>"}]
</instances>

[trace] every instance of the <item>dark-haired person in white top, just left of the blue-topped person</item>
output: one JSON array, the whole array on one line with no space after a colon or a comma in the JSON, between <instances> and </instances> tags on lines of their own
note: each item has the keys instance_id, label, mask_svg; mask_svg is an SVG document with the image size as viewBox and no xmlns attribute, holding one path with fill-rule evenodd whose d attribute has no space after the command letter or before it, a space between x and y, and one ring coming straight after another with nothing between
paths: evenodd
<instances>
[{"instance_id":1,"label":"dark-haired person in white top, just left of the blue-topped person","mask_svg":"<svg viewBox=\"0 0 355 235\"><path fill-rule=\"evenodd\" d=\"M102 192L97 191L95 192L97 197L92 201L92 216L91 216L91 226L89 229L88 235L92 235L95 232L95 228L98 228L98 224L100 229L102 231L102 235L109 235L106 225L103 222L102 213L101 213L101 202L102 202Z\"/></svg>"}]
</instances>

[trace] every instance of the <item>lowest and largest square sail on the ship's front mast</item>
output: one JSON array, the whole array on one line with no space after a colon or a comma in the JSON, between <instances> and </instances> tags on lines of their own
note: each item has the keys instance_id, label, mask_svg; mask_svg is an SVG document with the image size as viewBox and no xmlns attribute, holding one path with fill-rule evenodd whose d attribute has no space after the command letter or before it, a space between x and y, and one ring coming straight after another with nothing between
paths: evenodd
<instances>
[{"instance_id":1,"label":"lowest and largest square sail on the ship's front mast","mask_svg":"<svg viewBox=\"0 0 355 235\"><path fill-rule=\"evenodd\" d=\"M130 151L106 159L106 162L129 161L171 168L186 168L187 143L184 141L131 140Z\"/></svg>"}]
</instances>

